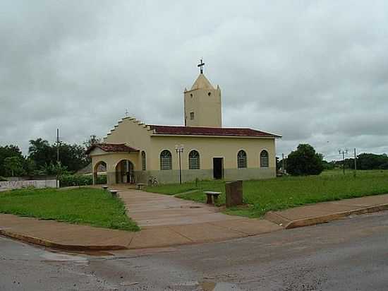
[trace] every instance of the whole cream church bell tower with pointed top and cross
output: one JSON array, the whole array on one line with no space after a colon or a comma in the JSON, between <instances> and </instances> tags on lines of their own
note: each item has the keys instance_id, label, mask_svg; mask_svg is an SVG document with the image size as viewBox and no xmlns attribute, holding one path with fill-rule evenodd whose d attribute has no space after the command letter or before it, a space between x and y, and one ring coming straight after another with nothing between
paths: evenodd
<instances>
[{"instance_id":1,"label":"whole cream church bell tower with pointed top and cross","mask_svg":"<svg viewBox=\"0 0 388 291\"><path fill-rule=\"evenodd\" d=\"M190 90L184 92L185 126L222 127L221 89L214 88L203 74L202 59L200 76Z\"/></svg>"}]
</instances>

